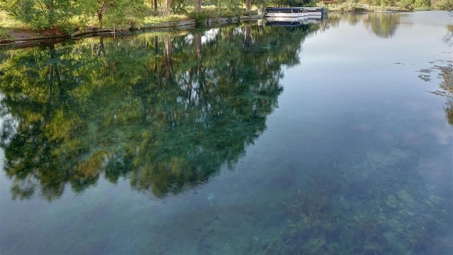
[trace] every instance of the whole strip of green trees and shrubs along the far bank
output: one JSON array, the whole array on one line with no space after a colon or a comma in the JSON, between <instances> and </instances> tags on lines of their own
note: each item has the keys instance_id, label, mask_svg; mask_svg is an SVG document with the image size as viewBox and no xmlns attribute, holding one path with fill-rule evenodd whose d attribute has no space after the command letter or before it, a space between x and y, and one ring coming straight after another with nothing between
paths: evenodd
<instances>
[{"instance_id":1,"label":"whole strip of green trees and shrubs along the far bank","mask_svg":"<svg viewBox=\"0 0 453 255\"><path fill-rule=\"evenodd\" d=\"M337 6L396 6L453 10L453 0L339 0ZM148 16L185 14L189 18L206 18L207 6L220 15L240 16L252 6L323 6L319 0L0 0L0 11L22 21L35 30L71 33L96 24L101 28L130 28L144 25ZM346 8L345 10L354 10Z\"/></svg>"}]
</instances>

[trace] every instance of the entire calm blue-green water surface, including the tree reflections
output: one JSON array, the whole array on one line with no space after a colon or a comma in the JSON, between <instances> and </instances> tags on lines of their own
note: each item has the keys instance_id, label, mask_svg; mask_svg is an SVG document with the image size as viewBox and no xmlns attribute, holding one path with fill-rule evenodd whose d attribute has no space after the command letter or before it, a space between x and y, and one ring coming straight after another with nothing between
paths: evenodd
<instances>
[{"instance_id":1,"label":"entire calm blue-green water surface, including the tree reflections","mask_svg":"<svg viewBox=\"0 0 453 255\"><path fill-rule=\"evenodd\" d=\"M450 254L452 35L331 13L1 50L0 253Z\"/></svg>"}]
</instances>

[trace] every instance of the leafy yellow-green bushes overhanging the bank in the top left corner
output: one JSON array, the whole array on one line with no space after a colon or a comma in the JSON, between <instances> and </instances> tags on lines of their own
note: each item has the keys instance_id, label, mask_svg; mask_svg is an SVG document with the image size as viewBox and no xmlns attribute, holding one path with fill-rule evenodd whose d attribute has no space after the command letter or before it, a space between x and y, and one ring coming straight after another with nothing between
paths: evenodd
<instances>
[{"instance_id":1,"label":"leafy yellow-green bushes overhanging the bank in the top left corner","mask_svg":"<svg viewBox=\"0 0 453 255\"><path fill-rule=\"evenodd\" d=\"M143 23L142 0L0 0L0 10L37 30L69 33L94 17L107 28L130 28Z\"/></svg>"}]
</instances>

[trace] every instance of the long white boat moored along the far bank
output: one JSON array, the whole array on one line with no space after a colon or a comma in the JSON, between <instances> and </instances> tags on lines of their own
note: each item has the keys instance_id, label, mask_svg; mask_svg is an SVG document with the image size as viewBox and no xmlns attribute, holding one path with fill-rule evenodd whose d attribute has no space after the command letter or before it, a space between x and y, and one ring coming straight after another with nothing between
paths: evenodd
<instances>
[{"instance_id":1,"label":"long white boat moored along the far bank","mask_svg":"<svg viewBox=\"0 0 453 255\"><path fill-rule=\"evenodd\" d=\"M321 7L266 7L265 18L322 18Z\"/></svg>"}]
</instances>

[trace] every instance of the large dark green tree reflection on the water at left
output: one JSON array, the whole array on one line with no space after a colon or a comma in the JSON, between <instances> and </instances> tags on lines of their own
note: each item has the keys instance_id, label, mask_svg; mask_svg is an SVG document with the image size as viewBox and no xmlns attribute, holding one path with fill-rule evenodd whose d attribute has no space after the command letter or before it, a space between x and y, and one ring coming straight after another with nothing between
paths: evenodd
<instances>
[{"instance_id":1,"label":"large dark green tree reflection on the water at left","mask_svg":"<svg viewBox=\"0 0 453 255\"><path fill-rule=\"evenodd\" d=\"M281 66L299 62L317 26L287 37L245 24L9 50L0 79L13 197L40 190L53 200L66 183L80 192L101 175L158 197L209 181L265 130Z\"/></svg>"}]
</instances>

